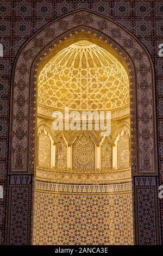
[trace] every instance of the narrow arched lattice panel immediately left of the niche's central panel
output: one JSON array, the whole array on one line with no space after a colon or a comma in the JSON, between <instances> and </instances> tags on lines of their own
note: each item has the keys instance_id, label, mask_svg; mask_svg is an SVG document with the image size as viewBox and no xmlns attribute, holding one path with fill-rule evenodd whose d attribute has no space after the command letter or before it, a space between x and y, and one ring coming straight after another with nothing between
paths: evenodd
<instances>
[{"instance_id":1,"label":"narrow arched lattice panel immediately left of the niche's central panel","mask_svg":"<svg viewBox=\"0 0 163 256\"><path fill-rule=\"evenodd\" d=\"M60 138L55 148L55 166L57 168L66 169L67 167L67 146L64 138Z\"/></svg>"}]
</instances>

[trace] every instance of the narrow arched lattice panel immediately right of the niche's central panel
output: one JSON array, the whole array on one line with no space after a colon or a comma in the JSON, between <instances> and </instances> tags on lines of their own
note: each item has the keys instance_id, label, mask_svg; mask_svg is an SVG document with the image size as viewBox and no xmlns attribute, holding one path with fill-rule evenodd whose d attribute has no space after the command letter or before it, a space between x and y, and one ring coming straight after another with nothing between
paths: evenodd
<instances>
[{"instance_id":1,"label":"narrow arched lattice panel immediately right of the niche's central panel","mask_svg":"<svg viewBox=\"0 0 163 256\"><path fill-rule=\"evenodd\" d=\"M101 169L112 168L112 146L108 139L104 139L101 145Z\"/></svg>"}]
</instances>

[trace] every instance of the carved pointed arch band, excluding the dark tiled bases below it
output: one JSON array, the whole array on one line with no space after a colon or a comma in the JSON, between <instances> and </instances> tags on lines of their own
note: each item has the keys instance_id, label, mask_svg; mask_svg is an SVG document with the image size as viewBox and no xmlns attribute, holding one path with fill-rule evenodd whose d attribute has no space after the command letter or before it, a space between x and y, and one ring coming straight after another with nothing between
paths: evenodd
<instances>
[{"instance_id":1,"label":"carved pointed arch band, excluding the dark tiled bases below it","mask_svg":"<svg viewBox=\"0 0 163 256\"><path fill-rule=\"evenodd\" d=\"M79 26L78 20L82 20L81 15L84 15L85 23L82 22ZM117 55L119 53L128 63L131 88L131 128L133 130L131 131L132 148L134 149L133 174L157 174L154 74L151 58L140 42L115 22L108 20L103 31L99 30L99 21L104 20L106 22L104 17L87 14L84 11L83 14L79 12L79 14L67 15L60 21L54 21L41 29L28 41L28 44L22 47L17 56L12 80L14 82L12 102L14 100L15 108L11 115L10 141L13 147L10 149L13 148L13 150L9 152L11 158L9 172L33 172L34 139L30 139L29 143L29 137L34 135L35 130L37 64L47 55L47 52L57 47L57 45L54 46L55 44L60 44L60 40L66 37L71 38L70 34L85 30L101 37L101 41L107 41L105 43L110 45L112 51L116 51ZM137 51L139 54L136 54ZM27 115L29 106L30 115ZM19 118L20 116L22 118ZM23 126L20 125L22 120ZM32 131L30 134L29 128Z\"/></svg>"}]
</instances>

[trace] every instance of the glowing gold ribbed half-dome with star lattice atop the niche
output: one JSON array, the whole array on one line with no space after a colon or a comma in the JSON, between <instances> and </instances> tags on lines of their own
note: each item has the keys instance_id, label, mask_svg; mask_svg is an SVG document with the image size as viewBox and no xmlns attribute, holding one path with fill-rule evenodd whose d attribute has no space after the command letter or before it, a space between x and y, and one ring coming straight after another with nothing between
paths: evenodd
<instances>
[{"instance_id":1,"label":"glowing gold ribbed half-dome with star lattice atop the niche","mask_svg":"<svg viewBox=\"0 0 163 256\"><path fill-rule=\"evenodd\" d=\"M38 103L63 109L106 110L129 104L129 79L109 52L81 40L57 53L41 70Z\"/></svg>"}]
</instances>

